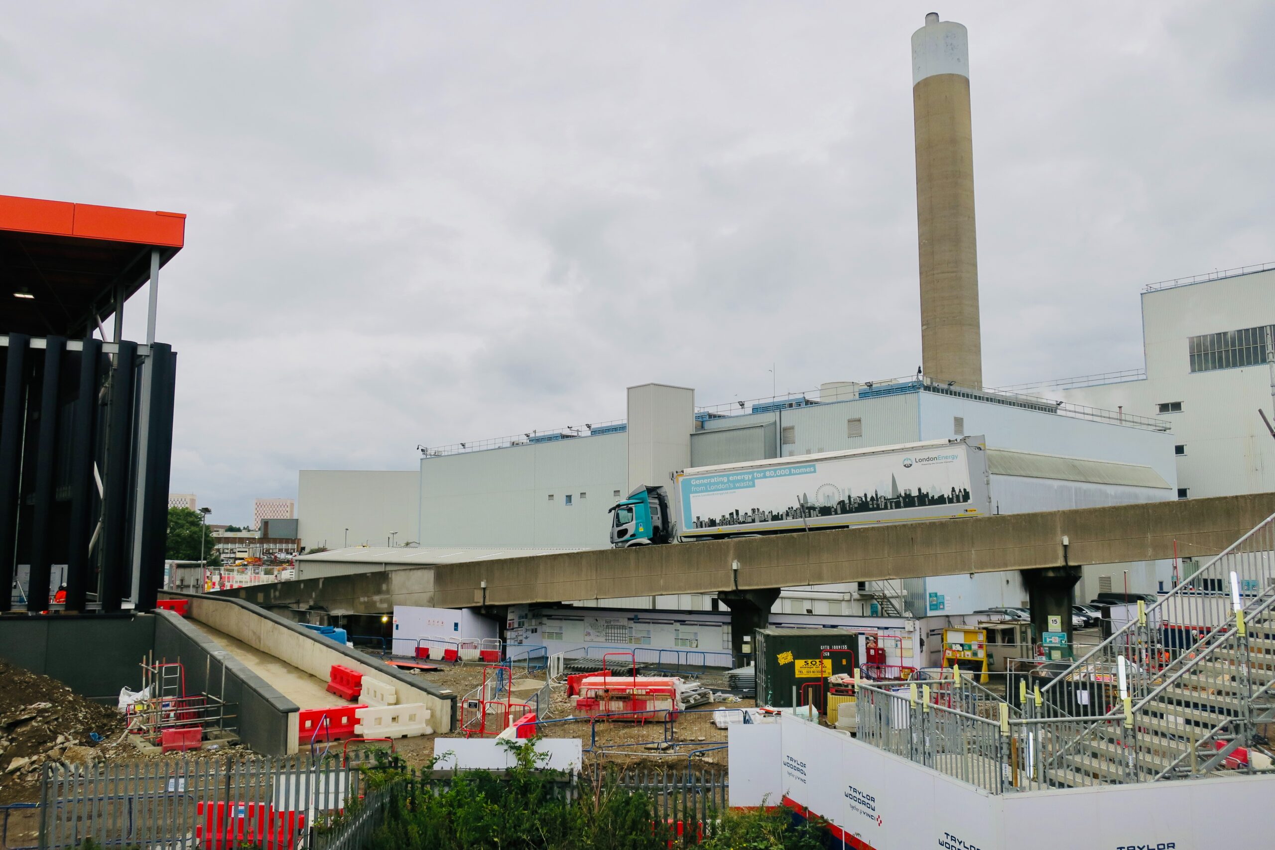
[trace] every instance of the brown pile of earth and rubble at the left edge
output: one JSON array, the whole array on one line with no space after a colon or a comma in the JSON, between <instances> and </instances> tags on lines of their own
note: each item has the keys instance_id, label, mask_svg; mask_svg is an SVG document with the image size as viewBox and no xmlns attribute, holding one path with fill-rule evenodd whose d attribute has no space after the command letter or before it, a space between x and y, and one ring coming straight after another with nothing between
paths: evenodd
<instances>
[{"instance_id":1,"label":"brown pile of earth and rubble at the left edge","mask_svg":"<svg viewBox=\"0 0 1275 850\"><path fill-rule=\"evenodd\" d=\"M37 781L46 761L96 761L98 743L113 743L124 731L113 707L47 675L0 661L0 789Z\"/></svg>"}]
</instances>

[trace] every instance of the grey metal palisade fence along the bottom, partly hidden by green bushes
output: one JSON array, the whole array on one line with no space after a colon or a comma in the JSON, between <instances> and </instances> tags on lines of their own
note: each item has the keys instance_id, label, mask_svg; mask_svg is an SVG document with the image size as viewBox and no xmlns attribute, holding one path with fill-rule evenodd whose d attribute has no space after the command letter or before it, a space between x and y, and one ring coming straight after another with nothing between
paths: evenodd
<instances>
[{"instance_id":1,"label":"grey metal palisade fence along the bottom, partly hidden by green bushes","mask_svg":"<svg viewBox=\"0 0 1275 850\"><path fill-rule=\"evenodd\" d=\"M78 847L92 840L164 850L361 850L397 793L441 794L459 774L402 768L391 784L372 786L358 767L376 763L377 754L348 756L46 765L38 846ZM728 804L722 768L595 768L585 777L564 776L555 794L576 800L606 785L641 791L655 817L673 827L708 825Z\"/></svg>"}]
</instances>

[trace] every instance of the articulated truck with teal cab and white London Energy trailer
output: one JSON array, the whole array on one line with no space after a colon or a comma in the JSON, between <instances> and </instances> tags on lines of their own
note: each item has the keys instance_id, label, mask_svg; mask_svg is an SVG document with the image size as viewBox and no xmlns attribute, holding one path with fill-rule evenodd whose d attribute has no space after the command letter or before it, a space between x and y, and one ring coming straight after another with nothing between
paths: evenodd
<instances>
[{"instance_id":1,"label":"articulated truck with teal cab and white London Energy trailer","mask_svg":"<svg viewBox=\"0 0 1275 850\"><path fill-rule=\"evenodd\" d=\"M699 466L611 508L613 547L991 512L983 437Z\"/></svg>"}]
</instances>

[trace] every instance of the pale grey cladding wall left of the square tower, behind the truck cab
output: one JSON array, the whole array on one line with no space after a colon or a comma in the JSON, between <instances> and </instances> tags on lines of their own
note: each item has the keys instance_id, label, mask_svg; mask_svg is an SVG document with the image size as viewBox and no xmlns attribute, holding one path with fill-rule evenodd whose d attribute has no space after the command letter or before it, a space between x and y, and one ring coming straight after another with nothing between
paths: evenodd
<instances>
[{"instance_id":1,"label":"pale grey cladding wall left of the square tower, behind the truck cab","mask_svg":"<svg viewBox=\"0 0 1275 850\"><path fill-rule=\"evenodd\" d=\"M422 459L421 545L609 545L627 472L623 433Z\"/></svg>"}]
</instances>

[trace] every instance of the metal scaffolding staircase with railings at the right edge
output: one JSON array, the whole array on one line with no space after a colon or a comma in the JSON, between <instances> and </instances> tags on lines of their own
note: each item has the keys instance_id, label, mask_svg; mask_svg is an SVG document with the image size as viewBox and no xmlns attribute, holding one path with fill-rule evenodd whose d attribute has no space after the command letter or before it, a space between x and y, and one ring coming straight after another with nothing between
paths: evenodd
<instances>
[{"instance_id":1,"label":"metal scaffolding staircase with railings at the right edge","mask_svg":"<svg viewBox=\"0 0 1275 850\"><path fill-rule=\"evenodd\" d=\"M1253 771L1275 723L1275 516L1026 701L1054 788Z\"/></svg>"}]
</instances>

